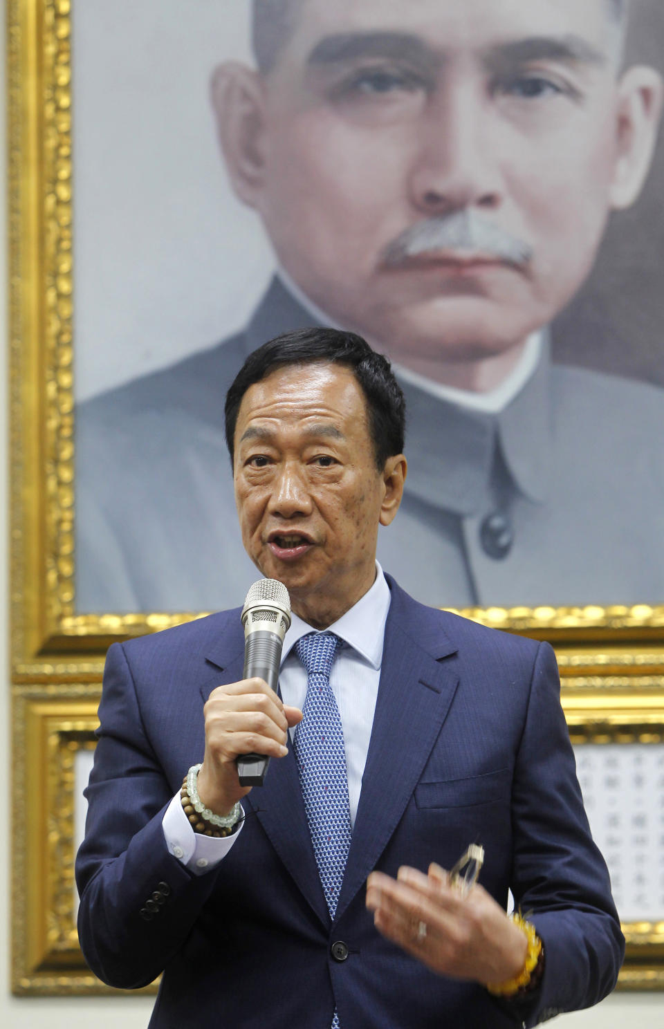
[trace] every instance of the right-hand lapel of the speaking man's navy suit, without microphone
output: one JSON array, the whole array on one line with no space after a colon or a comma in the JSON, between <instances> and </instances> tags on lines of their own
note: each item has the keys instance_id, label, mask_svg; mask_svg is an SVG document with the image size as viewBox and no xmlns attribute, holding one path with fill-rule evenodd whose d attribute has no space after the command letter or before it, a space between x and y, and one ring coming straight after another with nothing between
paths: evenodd
<instances>
[{"instance_id":1,"label":"right-hand lapel of the speaking man's navy suit, without microphone","mask_svg":"<svg viewBox=\"0 0 664 1029\"><path fill-rule=\"evenodd\" d=\"M376 713L338 918L396 828L458 684L456 670L440 661L455 650L440 626L440 613L417 605L427 622L438 623L434 632L430 624L422 628L414 617L414 602L391 588Z\"/></svg>"}]
</instances>

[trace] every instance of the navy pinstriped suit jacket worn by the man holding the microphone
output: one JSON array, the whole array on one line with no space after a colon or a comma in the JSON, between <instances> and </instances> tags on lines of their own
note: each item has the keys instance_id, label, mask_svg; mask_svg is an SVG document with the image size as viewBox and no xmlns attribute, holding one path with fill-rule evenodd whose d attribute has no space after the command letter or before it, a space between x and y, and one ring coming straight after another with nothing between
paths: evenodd
<instances>
[{"instance_id":1,"label":"navy pinstriped suit jacket worn by the man holding the microphone","mask_svg":"<svg viewBox=\"0 0 664 1029\"><path fill-rule=\"evenodd\" d=\"M108 654L76 877L79 934L106 983L164 978L150 1026L500 1029L610 991L623 937L582 806L553 651L424 607L389 579L376 715L337 917L316 870L292 749L243 802L244 828L212 872L165 843L164 811L203 758L203 704L242 677L238 610ZM451 867L469 843L481 882L532 913L540 988L500 1003L384 939L364 906L373 868ZM166 887L164 886L166 884ZM167 894L151 921L141 909ZM338 961L331 945L343 942Z\"/></svg>"}]
</instances>

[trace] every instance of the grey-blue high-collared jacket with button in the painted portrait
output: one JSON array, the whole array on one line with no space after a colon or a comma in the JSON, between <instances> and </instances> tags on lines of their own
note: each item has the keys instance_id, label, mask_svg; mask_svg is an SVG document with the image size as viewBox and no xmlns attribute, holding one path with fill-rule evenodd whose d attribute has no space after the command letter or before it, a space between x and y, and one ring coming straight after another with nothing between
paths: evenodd
<instances>
[{"instance_id":1,"label":"grey-blue high-collared jacket with button in the painted portrait","mask_svg":"<svg viewBox=\"0 0 664 1029\"><path fill-rule=\"evenodd\" d=\"M244 332L77 409L78 610L243 600L255 572L237 527L225 392L252 350L311 320L275 281ZM662 601L662 389L551 365L546 346L498 415L403 386L409 472L378 556L414 596L451 607Z\"/></svg>"}]
</instances>

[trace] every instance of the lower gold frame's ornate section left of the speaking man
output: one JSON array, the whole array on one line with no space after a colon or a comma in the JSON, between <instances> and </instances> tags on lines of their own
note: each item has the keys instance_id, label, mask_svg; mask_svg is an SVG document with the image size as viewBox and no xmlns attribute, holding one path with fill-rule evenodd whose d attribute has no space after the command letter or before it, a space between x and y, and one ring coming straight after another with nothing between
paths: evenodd
<instances>
[{"instance_id":1,"label":"lower gold frame's ornate section left of the speaking man","mask_svg":"<svg viewBox=\"0 0 664 1029\"><path fill-rule=\"evenodd\" d=\"M12 791L15 994L129 992L90 971L76 931L75 760L95 748L98 704L99 686L84 683L24 683L14 698L14 759L25 770Z\"/></svg>"}]
</instances>

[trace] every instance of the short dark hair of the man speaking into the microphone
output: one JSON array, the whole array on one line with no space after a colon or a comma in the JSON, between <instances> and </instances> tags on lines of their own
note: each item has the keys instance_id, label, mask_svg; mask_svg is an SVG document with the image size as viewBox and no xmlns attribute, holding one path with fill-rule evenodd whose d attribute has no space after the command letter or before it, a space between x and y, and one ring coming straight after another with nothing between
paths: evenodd
<instances>
[{"instance_id":1,"label":"short dark hair of the man speaking into the microphone","mask_svg":"<svg viewBox=\"0 0 664 1029\"><path fill-rule=\"evenodd\" d=\"M361 335L336 328L303 328L284 332L264 343L235 377L225 397L225 441L233 464L235 427L242 397L250 386L271 371L290 364L316 361L343 364L351 369L366 401L369 431L380 471L388 457L404 450L406 400L390 363L377 354Z\"/></svg>"}]
</instances>

